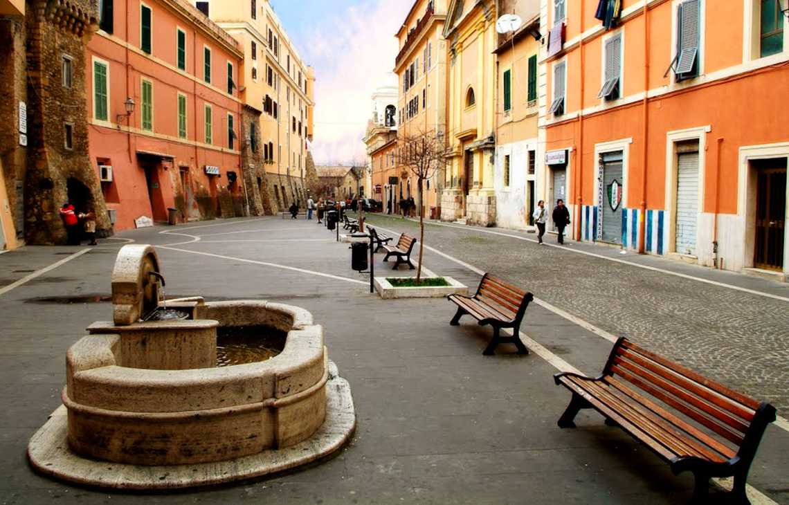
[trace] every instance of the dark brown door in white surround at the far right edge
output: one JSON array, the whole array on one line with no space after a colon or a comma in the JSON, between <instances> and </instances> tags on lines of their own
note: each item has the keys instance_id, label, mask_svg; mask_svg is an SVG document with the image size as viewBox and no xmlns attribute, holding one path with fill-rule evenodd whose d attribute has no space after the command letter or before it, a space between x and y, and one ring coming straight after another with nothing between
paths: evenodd
<instances>
[{"instance_id":1,"label":"dark brown door in white surround at the far right edge","mask_svg":"<svg viewBox=\"0 0 789 505\"><path fill-rule=\"evenodd\" d=\"M773 161L773 160L770 160ZM777 160L776 160L777 161ZM757 173L756 243L753 264L767 270L783 270L783 247L787 209L787 167L777 163L761 166Z\"/></svg>"}]
</instances>

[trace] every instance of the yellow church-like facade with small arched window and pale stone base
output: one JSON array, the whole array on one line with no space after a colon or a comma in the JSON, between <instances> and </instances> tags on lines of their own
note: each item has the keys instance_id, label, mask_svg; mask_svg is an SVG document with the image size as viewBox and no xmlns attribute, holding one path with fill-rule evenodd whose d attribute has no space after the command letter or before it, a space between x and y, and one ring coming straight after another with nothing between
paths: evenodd
<instances>
[{"instance_id":1,"label":"yellow church-like facade with small arched window and pale stone base","mask_svg":"<svg viewBox=\"0 0 789 505\"><path fill-rule=\"evenodd\" d=\"M493 0L452 0L447 42L447 133L452 148L441 219L493 226L495 204L495 30Z\"/></svg>"}]
</instances>

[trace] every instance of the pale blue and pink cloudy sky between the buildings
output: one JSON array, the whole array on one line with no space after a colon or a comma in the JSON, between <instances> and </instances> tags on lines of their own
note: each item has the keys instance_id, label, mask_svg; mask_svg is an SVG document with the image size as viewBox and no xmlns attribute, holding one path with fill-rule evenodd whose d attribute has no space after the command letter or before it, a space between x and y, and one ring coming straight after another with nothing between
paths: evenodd
<instances>
[{"instance_id":1,"label":"pale blue and pink cloudy sky between the buildings","mask_svg":"<svg viewBox=\"0 0 789 505\"><path fill-rule=\"evenodd\" d=\"M394 68L394 34L411 0L269 2L301 58L315 69L315 162L363 162L370 97Z\"/></svg>"}]
</instances>

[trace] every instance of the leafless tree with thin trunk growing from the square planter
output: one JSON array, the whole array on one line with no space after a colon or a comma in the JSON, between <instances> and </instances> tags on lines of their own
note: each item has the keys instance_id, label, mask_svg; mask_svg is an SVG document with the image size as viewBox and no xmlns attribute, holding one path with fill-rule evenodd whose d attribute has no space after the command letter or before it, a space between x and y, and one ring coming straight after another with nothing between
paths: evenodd
<instances>
[{"instance_id":1,"label":"leafless tree with thin trunk growing from the square planter","mask_svg":"<svg viewBox=\"0 0 789 505\"><path fill-rule=\"evenodd\" d=\"M422 253L424 251L424 181L431 179L439 169L446 166L451 148L443 132L436 129L411 133L398 133L398 147L395 159L403 170L417 176L417 195L419 196L419 267L417 284L422 278Z\"/></svg>"}]
</instances>

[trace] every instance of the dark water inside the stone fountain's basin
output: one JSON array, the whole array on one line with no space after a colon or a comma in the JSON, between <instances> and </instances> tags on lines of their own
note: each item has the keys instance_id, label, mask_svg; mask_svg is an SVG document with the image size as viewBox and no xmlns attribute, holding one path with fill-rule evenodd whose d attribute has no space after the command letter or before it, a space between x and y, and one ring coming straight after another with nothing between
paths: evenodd
<instances>
[{"instance_id":1,"label":"dark water inside the stone fountain's basin","mask_svg":"<svg viewBox=\"0 0 789 505\"><path fill-rule=\"evenodd\" d=\"M216 366L266 361L285 348L287 332L273 327L219 327L216 331Z\"/></svg>"}]
</instances>

